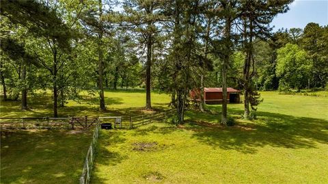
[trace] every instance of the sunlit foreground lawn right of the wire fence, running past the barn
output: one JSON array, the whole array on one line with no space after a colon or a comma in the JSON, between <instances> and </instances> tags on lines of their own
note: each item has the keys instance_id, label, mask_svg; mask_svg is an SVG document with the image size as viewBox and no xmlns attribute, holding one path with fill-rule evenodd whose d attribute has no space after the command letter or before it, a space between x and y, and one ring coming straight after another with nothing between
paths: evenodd
<instances>
[{"instance_id":1,"label":"sunlit foreground lawn right of the wire fence, running past the barn","mask_svg":"<svg viewBox=\"0 0 328 184\"><path fill-rule=\"evenodd\" d=\"M235 127L208 105L180 127L102 131L92 183L328 183L328 99L261 94L258 120L228 105Z\"/></svg>"}]
</instances>

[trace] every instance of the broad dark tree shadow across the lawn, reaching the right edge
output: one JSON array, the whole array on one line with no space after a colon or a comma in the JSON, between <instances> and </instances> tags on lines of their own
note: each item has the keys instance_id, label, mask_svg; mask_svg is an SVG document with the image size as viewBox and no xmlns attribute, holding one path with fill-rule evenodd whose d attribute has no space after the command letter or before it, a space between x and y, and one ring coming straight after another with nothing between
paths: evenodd
<instances>
[{"instance_id":1,"label":"broad dark tree shadow across the lawn, reaching the right edge","mask_svg":"<svg viewBox=\"0 0 328 184\"><path fill-rule=\"evenodd\" d=\"M252 124L195 129L193 137L214 148L256 153L256 147L316 148L328 144L328 122L259 111Z\"/></svg>"}]
</instances>

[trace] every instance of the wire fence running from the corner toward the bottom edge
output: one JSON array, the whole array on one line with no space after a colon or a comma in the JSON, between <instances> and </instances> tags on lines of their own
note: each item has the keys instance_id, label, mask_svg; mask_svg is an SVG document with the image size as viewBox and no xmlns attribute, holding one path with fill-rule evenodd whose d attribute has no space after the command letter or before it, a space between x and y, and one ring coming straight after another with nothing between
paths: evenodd
<instances>
[{"instance_id":1,"label":"wire fence running from the corner toward the bottom edge","mask_svg":"<svg viewBox=\"0 0 328 184\"><path fill-rule=\"evenodd\" d=\"M87 150L87 155L85 157L82 174L79 180L80 184L90 183L92 169L94 168L94 157L96 155L96 147L98 142L99 131L100 131L100 124L97 124L96 128L94 128L94 135L92 136L92 142L89 146L89 149Z\"/></svg>"}]
</instances>

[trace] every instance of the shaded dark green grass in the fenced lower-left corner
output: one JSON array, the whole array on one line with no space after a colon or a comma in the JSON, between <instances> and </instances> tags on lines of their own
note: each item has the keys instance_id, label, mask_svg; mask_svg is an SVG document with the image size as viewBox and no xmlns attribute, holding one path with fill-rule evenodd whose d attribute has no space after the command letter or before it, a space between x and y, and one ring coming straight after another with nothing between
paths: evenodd
<instances>
[{"instance_id":1,"label":"shaded dark green grass in the fenced lower-left corner","mask_svg":"<svg viewBox=\"0 0 328 184\"><path fill-rule=\"evenodd\" d=\"M91 131L1 131L0 183L78 183Z\"/></svg>"}]
</instances>

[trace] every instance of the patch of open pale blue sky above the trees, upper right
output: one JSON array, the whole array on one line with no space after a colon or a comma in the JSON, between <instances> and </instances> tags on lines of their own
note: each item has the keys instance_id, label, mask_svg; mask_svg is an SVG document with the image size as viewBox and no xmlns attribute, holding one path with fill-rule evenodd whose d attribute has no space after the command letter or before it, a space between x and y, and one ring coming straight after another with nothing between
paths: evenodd
<instances>
[{"instance_id":1,"label":"patch of open pale blue sky above the trees, upper right","mask_svg":"<svg viewBox=\"0 0 328 184\"><path fill-rule=\"evenodd\" d=\"M278 0L279 1L279 0ZM304 29L308 23L328 25L328 0L296 0L289 5L288 12L278 14L271 23L273 31L298 27Z\"/></svg>"}]
</instances>

